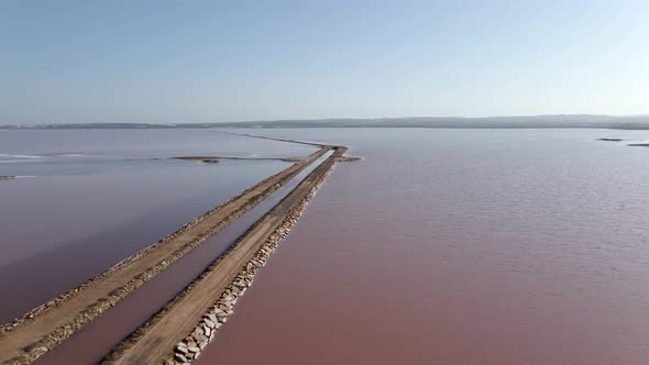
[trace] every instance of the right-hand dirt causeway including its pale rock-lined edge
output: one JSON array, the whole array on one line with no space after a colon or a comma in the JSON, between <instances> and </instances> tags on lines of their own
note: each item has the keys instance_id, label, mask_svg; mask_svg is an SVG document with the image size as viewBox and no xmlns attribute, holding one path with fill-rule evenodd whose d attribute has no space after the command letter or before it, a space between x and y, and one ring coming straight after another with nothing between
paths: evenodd
<instances>
[{"instance_id":1,"label":"right-hand dirt causeway including its pale rock-lined edge","mask_svg":"<svg viewBox=\"0 0 649 365\"><path fill-rule=\"evenodd\" d=\"M188 353L196 353L196 349L201 351L210 336L213 339L218 328L231 313L237 298L251 285L253 275L295 224L333 168L337 158L346 151L345 147L334 150L333 155L256 221L185 290L117 345L102 364L155 364L174 361L176 355L173 351L182 352L179 355L186 360L189 360L187 356L196 357ZM217 321L213 321L215 318ZM185 346L179 341L187 345L187 354L183 354ZM176 357L182 358L179 355Z\"/></svg>"}]
</instances>

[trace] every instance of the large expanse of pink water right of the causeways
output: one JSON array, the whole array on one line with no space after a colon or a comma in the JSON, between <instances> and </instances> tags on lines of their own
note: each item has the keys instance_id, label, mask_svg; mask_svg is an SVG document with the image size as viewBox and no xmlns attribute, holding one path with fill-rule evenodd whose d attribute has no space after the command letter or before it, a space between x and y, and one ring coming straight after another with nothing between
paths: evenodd
<instances>
[{"instance_id":1,"label":"large expanse of pink water right of the causeways","mask_svg":"<svg viewBox=\"0 0 649 365\"><path fill-rule=\"evenodd\" d=\"M255 131L257 132L257 131ZM607 130L273 130L352 146L199 364L646 364L649 148Z\"/></svg>"}]
</instances>

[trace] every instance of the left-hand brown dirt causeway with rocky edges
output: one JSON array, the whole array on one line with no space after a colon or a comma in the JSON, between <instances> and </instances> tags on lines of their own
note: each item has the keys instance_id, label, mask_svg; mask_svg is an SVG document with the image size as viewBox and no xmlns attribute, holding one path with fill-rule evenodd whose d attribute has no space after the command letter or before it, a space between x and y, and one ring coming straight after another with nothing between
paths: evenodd
<instances>
[{"instance_id":1,"label":"left-hand brown dirt causeway with rocky edges","mask_svg":"<svg viewBox=\"0 0 649 365\"><path fill-rule=\"evenodd\" d=\"M289 181L293 177L299 174L299 172L306 168L306 166L310 165L329 150L330 147L321 148L305 158L304 163L296 163L285 170L265 178L237 197L233 197L219 207L184 224L179 230L166 236L165 239L160 240L153 245L143 248L132 256L116 264L113 267L109 268L102 274L89 279L76 288L70 289L57 298L37 308L34 308L22 317L15 319L13 322L0 327L0 363L32 363L45 352L54 349L59 343L69 338L73 333L80 330L85 324L101 316L105 311L113 307L118 301L139 289L142 285L151 280L154 276L160 274L169 265L180 259L194 248L198 247L215 233L222 230L237 218L241 217L243 213L263 201L268 195ZM243 202L238 202L238 200L243 200ZM234 202L238 202L238 208L231 211L223 219L219 219L216 224L208 224L209 219L211 219L215 214L220 213L221 210L223 210L226 207L230 207ZM130 267L136 267L136 265L140 265L144 258L146 258L152 253L158 252L158 250L169 250L172 242L176 241L180 236L185 237L189 235L191 230L198 230L199 225L209 225L209 229L201 229L200 232L196 233L196 237L194 240L177 247L173 252L169 252L164 256L163 259L153 264L152 266L143 267L142 270L139 270L138 275L130 277L128 281L116 287L103 287L103 281L112 279L112 277L120 274L121 270L127 270ZM59 311L61 308L74 300L77 300L81 294L87 294L91 287L95 288L95 290L103 290L105 292L108 290L108 294L101 295L96 300L92 299L91 301L87 301L82 297L81 299L78 299L84 303L76 303L73 307L80 308L81 310L74 311L74 314L69 318L69 320L63 321L64 316L55 316L55 313L58 314L57 311ZM52 320L48 318L45 319L46 316L63 322L61 325L52 328ZM37 321L44 323L43 329L38 329L38 324L36 324ZM16 335L14 332L22 333ZM31 334L32 332L33 334Z\"/></svg>"}]
</instances>

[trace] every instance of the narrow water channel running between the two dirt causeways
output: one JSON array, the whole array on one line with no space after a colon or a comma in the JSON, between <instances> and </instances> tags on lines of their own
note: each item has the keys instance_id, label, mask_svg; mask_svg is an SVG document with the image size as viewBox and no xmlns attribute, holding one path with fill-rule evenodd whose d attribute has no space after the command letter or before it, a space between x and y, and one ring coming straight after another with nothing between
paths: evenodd
<instances>
[{"instance_id":1,"label":"narrow water channel running between the two dirt causeways","mask_svg":"<svg viewBox=\"0 0 649 365\"><path fill-rule=\"evenodd\" d=\"M331 153L327 153L317 159L255 208L158 274L62 345L46 353L36 363L41 365L63 364L70 358L75 360L75 364L95 364L100 361L124 336L138 329L184 289L188 283L200 275L216 257L330 155Z\"/></svg>"}]
</instances>

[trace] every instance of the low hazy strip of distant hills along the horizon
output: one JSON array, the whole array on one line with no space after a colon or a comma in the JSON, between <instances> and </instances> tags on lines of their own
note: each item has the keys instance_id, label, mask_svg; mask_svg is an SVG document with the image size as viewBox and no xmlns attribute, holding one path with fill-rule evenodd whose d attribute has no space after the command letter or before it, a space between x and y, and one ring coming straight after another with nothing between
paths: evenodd
<instances>
[{"instance_id":1,"label":"low hazy strip of distant hills along the horizon","mask_svg":"<svg viewBox=\"0 0 649 365\"><path fill-rule=\"evenodd\" d=\"M229 123L87 123L0 125L0 129L208 129L208 128L491 128L491 129L548 129L596 128L649 130L649 115L536 115L536 117L414 117L382 119L318 119L276 120Z\"/></svg>"}]
</instances>

